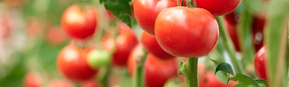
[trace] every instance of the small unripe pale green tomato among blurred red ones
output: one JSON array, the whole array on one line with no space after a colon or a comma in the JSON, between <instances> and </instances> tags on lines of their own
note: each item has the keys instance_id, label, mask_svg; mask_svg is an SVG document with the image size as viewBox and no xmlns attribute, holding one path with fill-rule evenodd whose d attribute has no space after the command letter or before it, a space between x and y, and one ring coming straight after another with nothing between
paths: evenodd
<instances>
[{"instance_id":1,"label":"small unripe pale green tomato among blurred red ones","mask_svg":"<svg viewBox=\"0 0 289 87\"><path fill-rule=\"evenodd\" d=\"M110 56L109 52L94 49L87 54L87 62L91 68L100 68L110 64Z\"/></svg>"}]
</instances>

